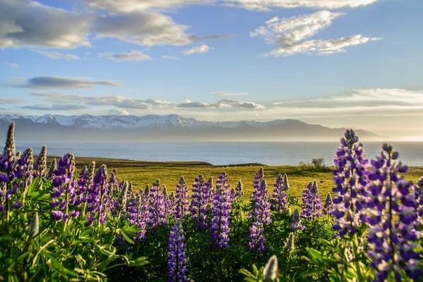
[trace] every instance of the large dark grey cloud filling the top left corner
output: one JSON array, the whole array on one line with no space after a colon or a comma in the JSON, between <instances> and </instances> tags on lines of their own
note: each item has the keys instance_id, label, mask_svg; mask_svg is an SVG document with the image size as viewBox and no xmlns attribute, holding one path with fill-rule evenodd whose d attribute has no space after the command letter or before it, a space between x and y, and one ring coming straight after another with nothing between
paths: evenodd
<instances>
[{"instance_id":1,"label":"large dark grey cloud filling the top left corner","mask_svg":"<svg viewBox=\"0 0 423 282\"><path fill-rule=\"evenodd\" d=\"M80 14L35 1L0 1L0 49L90 46L88 20Z\"/></svg>"}]
</instances>

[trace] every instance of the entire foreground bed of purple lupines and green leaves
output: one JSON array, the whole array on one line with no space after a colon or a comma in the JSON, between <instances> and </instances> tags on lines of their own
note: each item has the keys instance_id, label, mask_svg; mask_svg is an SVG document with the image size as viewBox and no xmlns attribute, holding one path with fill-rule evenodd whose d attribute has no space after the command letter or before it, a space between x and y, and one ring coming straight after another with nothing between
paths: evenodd
<instances>
[{"instance_id":1,"label":"entire foreground bed of purple lupines and green leaves","mask_svg":"<svg viewBox=\"0 0 423 282\"><path fill-rule=\"evenodd\" d=\"M181 177L170 195L159 179L136 192L94 162L77 177L71 153L47 169L47 147L34 161L13 133L12 123L0 159L0 280L422 279L423 180L405 180L391 145L367 160L353 130L336 153L333 192L321 197L310 179L302 200L287 175L263 168L249 200L225 172L215 183Z\"/></svg>"}]
</instances>

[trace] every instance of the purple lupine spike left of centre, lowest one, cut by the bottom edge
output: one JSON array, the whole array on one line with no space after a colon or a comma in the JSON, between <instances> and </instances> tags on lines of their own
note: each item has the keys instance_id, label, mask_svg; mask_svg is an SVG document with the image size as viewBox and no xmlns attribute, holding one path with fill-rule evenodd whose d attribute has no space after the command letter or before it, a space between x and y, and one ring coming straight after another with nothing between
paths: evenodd
<instances>
[{"instance_id":1,"label":"purple lupine spike left of centre, lowest one, cut by the bottom edge","mask_svg":"<svg viewBox=\"0 0 423 282\"><path fill-rule=\"evenodd\" d=\"M185 282L188 281L188 261L187 255L185 255L185 236L183 235L182 224L179 219L176 219L176 223L171 227L171 233L169 234L169 245L168 245L168 281L172 282Z\"/></svg>"}]
</instances>

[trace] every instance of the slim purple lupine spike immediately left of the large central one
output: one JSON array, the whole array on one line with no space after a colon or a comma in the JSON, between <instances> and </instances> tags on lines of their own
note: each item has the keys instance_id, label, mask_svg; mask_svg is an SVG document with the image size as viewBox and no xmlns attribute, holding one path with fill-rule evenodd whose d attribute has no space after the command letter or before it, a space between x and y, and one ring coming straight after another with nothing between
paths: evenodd
<instances>
[{"instance_id":1,"label":"slim purple lupine spike immediately left of the large central one","mask_svg":"<svg viewBox=\"0 0 423 282\"><path fill-rule=\"evenodd\" d=\"M200 173L195 178L194 184L192 184L192 200L190 211L192 214L192 226L195 228L207 228L207 195L205 191L204 176Z\"/></svg>"}]
</instances>

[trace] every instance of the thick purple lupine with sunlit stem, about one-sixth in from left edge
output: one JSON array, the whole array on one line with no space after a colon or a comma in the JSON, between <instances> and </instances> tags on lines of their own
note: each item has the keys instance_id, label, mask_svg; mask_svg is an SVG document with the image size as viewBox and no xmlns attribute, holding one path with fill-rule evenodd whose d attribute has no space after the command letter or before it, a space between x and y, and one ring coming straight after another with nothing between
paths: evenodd
<instances>
[{"instance_id":1,"label":"thick purple lupine with sunlit stem, about one-sixth in from left edge","mask_svg":"<svg viewBox=\"0 0 423 282\"><path fill-rule=\"evenodd\" d=\"M61 220L66 223L69 216L76 217L79 212L76 209L70 210L70 206L75 205L76 200L76 180L75 180L75 157L73 154L65 154L54 171L53 189L50 193L51 219ZM60 215L60 216L59 216Z\"/></svg>"}]
</instances>

